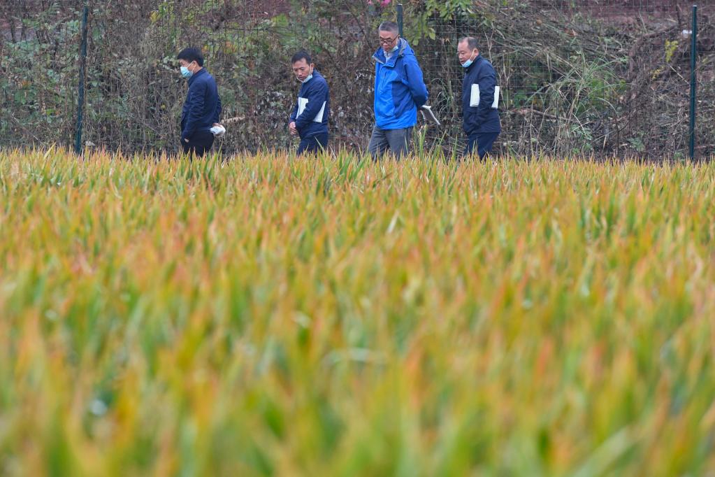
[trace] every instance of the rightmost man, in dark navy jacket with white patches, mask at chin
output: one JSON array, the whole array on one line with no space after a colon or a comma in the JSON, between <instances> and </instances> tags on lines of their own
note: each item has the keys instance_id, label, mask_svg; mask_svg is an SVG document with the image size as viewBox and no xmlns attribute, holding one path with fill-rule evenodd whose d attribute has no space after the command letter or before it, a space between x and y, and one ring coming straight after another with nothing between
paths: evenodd
<instances>
[{"instance_id":1,"label":"rightmost man, in dark navy jacket with white patches, mask at chin","mask_svg":"<svg viewBox=\"0 0 715 477\"><path fill-rule=\"evenodd\" d=\"M462 109L467 147L464 154L472 154L476 148L479 159L484 159L501 132L496 72L491 63L479 54L479 44L472 36L460 39L457 56L465 72Z\"/></svg>"}]
</instances>

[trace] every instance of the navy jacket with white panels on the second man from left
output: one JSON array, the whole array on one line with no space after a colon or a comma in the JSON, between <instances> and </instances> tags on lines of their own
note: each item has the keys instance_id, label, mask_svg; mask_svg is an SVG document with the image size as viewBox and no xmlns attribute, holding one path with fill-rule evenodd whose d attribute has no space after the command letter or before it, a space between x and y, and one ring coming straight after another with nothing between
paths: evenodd
<instances>
[{"instance_id":1,"label":"navy jacket with white panels on the second man from left","mask_svg":"<svg viewBox=\"0 0 715 477\"><path fill-rule=\"evenodd\" d=\"M313 77L300 86L290 122L295 121L300 139L327 133L330 116L330 91L322 74L313 69Z\"/></svg>"}]
</instances>

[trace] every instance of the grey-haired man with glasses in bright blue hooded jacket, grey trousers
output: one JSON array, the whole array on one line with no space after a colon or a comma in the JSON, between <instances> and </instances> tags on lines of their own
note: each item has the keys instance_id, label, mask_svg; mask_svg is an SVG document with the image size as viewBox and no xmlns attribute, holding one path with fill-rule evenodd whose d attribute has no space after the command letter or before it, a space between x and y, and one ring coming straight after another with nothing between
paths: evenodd
<instances>
[{"instance_id":1,"label":"grey-haired man with glasses in bright blue hooded jacket, grey trousers","mask_svg":"<svg viewBox=\"0 0 715 477\"><path fill-rule=\"evenodd\" d=\"M375 126L368 151L373 159L388 151L410 152L417 109L427 102L427 87L415 52L400 38L398 24L383 21L378 28L381 48L375 51Z\"/></svg>"}]
</instances>

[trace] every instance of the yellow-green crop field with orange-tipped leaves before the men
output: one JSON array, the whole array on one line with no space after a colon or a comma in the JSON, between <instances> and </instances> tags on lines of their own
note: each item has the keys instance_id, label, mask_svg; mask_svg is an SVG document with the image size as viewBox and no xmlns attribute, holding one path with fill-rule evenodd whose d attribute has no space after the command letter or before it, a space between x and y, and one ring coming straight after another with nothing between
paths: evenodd
<instances>
[{"instance_id":1,"label":"yellow-green crop field with orange-tipped leaves before the men","mask_svg":"<svg viewBox=\"0 0 715 477\"><path fill-rule=\"evenodd\" d=\"M0 474L715 472L715 166L0 150Z\"/></svg>"}]
</instances>

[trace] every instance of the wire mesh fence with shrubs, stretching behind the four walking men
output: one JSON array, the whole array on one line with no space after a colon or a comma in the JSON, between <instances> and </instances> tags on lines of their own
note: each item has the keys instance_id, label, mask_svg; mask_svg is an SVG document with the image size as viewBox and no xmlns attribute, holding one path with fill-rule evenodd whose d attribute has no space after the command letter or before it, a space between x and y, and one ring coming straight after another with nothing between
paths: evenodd
<instances>
[{"instance_id":1,"label":"wire mesh fence with shrubs, stretching behind the four walking men","mask_svg":"<svg viewBox=\"0 0 715 477\"><path fill-rule=\"evenodd\" d=\"M0 147L71 144L84 1L0 5ZM87 147L178 147L186 92L175 63L199 46L217 79L225 152L295 147L287 133L297 49L331 88L333 147L364 149L373 123L380 21L395 1L90 0ZM456 48L475 36L501 85L497 152L684 157L689 142L691 4L680 0L404 1L440 127L428 145L463 147ZM699 4L696 153L715 153L714 2Z\"/></svg>"}]
</instances>

